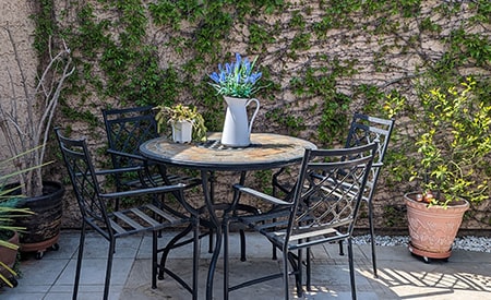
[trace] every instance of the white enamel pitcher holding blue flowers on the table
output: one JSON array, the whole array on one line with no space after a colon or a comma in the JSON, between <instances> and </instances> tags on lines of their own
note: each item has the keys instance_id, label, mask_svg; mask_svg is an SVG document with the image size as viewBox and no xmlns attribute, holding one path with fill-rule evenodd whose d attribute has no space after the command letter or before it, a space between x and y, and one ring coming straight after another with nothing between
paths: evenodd
<instances>
[{"instance_id":1,"label":"white enamel pitcher holding blue flowers on the table","mask_svg":"<svg viewBox=\"0 0 491 300\"><path fill-rule=\"evenodd\" d=\"M218 72L213 72L209 83L217 95L224 96L227 103L221 144L232 147L244 147L250 142L252 123L260 109L260 101L251 98L262 87L258 85L261 72L254 72L258 57L252 60L236 53L236 61L226 63L225 68L218 64ZM247 107L255 103L255 110L251 121L248 121Z\"/></svg>"}]
</instances>

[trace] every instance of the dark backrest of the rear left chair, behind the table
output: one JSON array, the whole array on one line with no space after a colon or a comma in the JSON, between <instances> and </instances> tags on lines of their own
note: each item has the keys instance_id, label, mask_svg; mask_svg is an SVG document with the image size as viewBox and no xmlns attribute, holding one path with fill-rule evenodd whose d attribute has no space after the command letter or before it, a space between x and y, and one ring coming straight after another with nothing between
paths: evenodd
<instances>
[{"instance_id":1,"label":"dark backrest of the rear left chair, behind the table","mask_svg":"<svg viewBox=\"0 0 491 300\"><path fill-rule=\"evenodd\" d=\"M158 137L157 122L151 106L103 109L103 118L109 149L140 156L139 146ZM115 168L133 167L142 163L113 154L111 159Z\"/></svg>"}]
</instances>

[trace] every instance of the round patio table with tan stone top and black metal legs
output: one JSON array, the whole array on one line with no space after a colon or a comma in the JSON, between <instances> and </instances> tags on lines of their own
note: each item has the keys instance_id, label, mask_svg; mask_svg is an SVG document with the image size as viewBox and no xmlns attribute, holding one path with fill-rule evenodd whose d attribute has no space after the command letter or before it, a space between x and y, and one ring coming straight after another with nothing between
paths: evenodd
<instances>
[{"instance_id":1,"label":"round patio table with tan stone top and black metal legs","mask_svg":"<svg viewBox=\"0 0 491 300\"><path fill-rule=\"evenodd\" d=\"M213 194L214 181L209 181L211 173L240 171L240 183L243 184L247 171L299 164L306 148L316 148L311 142L273 133L252 133L251 145L231 148L219 143L220 136L220 133L209 133L207 142L196 144L178 144L165 137L158 137L140 146L142 155L151 160L201 171L205 205L217 230L208 268L206 299L212 299L213 296L213 277L221 249L221 220L217 216L217 205Z\"/></svg>"}]
</instances>

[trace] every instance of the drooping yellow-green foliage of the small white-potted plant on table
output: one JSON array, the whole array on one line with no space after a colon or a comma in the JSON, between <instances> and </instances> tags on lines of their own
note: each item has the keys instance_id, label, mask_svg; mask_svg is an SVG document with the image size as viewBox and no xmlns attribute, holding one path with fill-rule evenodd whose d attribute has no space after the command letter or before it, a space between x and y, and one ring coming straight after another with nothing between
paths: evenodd
<instances>
[{"instance_id":1,"label":"drooping yellow-green foliage of the small white-potted plant on table","mask_svg":"<svg viewBox=\"0 0 491 300\"><path fill-rule=\"evenodd\" d=\"M193 124L193 141L206 141L206 127L203 116L197 112L196 107L189 107L181 104L175 106L157 106L155 120L158 124L158 132L163 132L165 124L172 124L178 121L190 121Z\"/></svg>"}]
</instances>

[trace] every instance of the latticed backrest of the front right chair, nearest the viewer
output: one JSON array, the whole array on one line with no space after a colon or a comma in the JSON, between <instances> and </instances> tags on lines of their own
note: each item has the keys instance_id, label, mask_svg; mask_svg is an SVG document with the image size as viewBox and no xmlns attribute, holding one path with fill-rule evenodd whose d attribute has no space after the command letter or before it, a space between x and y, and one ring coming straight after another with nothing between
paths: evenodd
<instances>
[{"instance_id":1,"label":"latticed backrest of the front right chair, nearest the viewer","mask_svg":"<svg viewBox=\"0 0 491 300\"><path fill-rule=\"evenodd\" d=\"M351 236L378 143L306 149L288 221L287 240L312 244Z\"/></svg>"}]
</instances>

